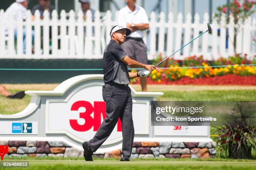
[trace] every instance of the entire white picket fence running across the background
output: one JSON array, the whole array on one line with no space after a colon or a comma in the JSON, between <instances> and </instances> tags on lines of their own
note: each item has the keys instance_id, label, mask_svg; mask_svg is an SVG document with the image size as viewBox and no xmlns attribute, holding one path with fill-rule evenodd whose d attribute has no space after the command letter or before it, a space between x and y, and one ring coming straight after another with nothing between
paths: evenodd
<instances>
[{"instance_id":1,"label":"entire white picket fence running across the background","mask_svg":"<svg viewBox=\"0 0 256 170\"><path fill-rule=\"evenodd\" d=\"M27 11L27 20L23 21L20 15L18 21L10 20L9 30L5 31L4 11L0 10L0 58L8 59L100 59L103 57L105 45L110 41L110 30L117 24L118 13L115 17L108 11L103 19L100 19L100 12L95 12L95 20L92 22L91 12L87 12L87 20L83 20L83 13L79 11L77 16L73 10L68 14L62 10L60 19L56 10L52 13L51 20L49 12L44 12L44 19L40 19L39 11L35 13L35 20L31 20L31 12ZM184 44L197 37L201 32L207 30L209 15L205 13L203 23L200 17L195 14L192 23L192 16L186 16L185 23L183 16L179 13L177 22L174 23L172 13L169 13L167 22L164 13L156 19L154 12L150 15L150 29L145 33L144 42L148 47L148 59L154 59L159 53L170 55ZM67 19L69 18L69 19ZM112 20L115 18L115 20ZM14 25L17 27L17 38L14 38ZM212 34L206 33L192 44L184 47L175 54L175 58L182 60L189 55L204 55L205 59L217 59L220 56L228 57L233 55L233 28L231 22L228 26L229 40L226 48L225 16L222 17L220 25L216 20L212 21ZM86 29L85 29L86 28ZM23 29L26 29L26 54L23 54ZM220 35L218 35L220 29ZM49 31L51 30L51 43ZM32 41L34 31L34 41ZM253 42L256 36L256 18L248 18L240 28L237 37L237 52L247 53L249 57L256 54L256 43ZM42 43L42 44L41 44ZM32 49L33 51L32 52Z\"/></svg>"}]
</instances>

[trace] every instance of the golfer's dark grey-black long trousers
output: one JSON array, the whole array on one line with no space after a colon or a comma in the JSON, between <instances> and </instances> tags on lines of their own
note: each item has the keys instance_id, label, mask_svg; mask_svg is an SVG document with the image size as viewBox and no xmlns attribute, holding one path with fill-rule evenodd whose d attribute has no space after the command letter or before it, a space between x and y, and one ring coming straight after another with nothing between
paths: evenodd
<instances>
[{"instance_id":1,"label":"golfer's dark grey-black long trousers","mask_svg":"<svg viewBox=\"0 0 256 170\"><path fill-rule=\"evenodd\" d=\"M131 155L134 138L132 107L130 87L120 87L105 84L102 87L103 100L106 102L107 117L103 120L95 136L88 142L92 152L95 152L112 133L118 118L122 122L123 133L123 155Z\"/></svg>"}]
</instances>

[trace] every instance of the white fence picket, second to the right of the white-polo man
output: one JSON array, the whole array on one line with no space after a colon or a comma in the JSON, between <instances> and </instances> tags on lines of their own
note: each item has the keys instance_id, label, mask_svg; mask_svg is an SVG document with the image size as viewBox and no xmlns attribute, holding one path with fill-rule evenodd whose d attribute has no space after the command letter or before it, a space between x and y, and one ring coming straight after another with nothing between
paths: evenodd
<instances>
[{"instance_id":1,"label":"white fence picket, second to the right of the white-polo man","mask_svg":"<svg viewBox=\"0 0 256 170\"><path fill-rule=\"evenodd\" d=\"M165 35L165 15L164 12L160 13L160 22L159 22L159 39L158 39L158 52L164 53L164 35Z\"/></svg>"}]
</instances>

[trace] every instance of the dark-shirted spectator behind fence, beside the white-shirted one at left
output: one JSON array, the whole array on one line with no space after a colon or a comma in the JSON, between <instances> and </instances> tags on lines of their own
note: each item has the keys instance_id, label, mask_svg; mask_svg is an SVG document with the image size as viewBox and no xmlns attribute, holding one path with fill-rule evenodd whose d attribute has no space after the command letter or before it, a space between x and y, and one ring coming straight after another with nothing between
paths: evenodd
<instances>
[{"instance_id":1,"label":"dark-shirted spectator behind fence, beside the white-shirted one at left","mask_svg":"<svg viewBox=\"0 0 256 170\"><path fill-rule=\"evenodd\" d=\"M44 18L44 10L48 10L50 13L50 18L51 18L51 13L53 10L55 10L54 6L51 5L51 0L38 0L39 4L35 5L32 8L32 15L35 15L36 10L39 10L40 12L40 18Z\"/></svg>"}]
</instances>

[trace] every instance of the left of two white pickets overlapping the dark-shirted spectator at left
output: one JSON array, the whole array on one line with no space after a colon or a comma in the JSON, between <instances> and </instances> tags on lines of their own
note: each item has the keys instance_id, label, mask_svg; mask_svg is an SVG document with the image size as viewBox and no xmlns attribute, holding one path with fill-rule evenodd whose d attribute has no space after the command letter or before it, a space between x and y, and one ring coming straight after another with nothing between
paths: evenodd
<instances>
[{"instance_id":1,"label":"left of two white pickets overlapping the dark-shirted spectator at left","mask_svg":"<svg viewBox=\"0 0 256 170\"><path fill-rule=\"evenodd\" d=\"M41 56L41 19L40 12L35 12L35 56L39 58Z\"/></svg>"}]
</instances>

